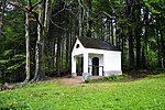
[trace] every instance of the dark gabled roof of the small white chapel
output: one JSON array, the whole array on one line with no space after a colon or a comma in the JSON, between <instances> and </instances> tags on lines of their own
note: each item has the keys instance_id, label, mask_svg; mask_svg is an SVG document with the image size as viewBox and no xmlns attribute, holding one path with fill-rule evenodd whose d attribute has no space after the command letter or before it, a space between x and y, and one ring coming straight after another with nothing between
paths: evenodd
<instances>
[{"instance_id":1,"label":"dark gabled roof of the small white chapel","mask_svg":"<svg viewBox=\"0 0 165 110\"><path fill-rule=\"evenodd\" d=\"M102 40L91 38L91 37L84 37L84 36L77 36L77 38L80 41L80 43L86 48L120 51L120 48L118 48L114 45L111 45L108 42L102 41Z\"/></svg>"}]
</instances>

